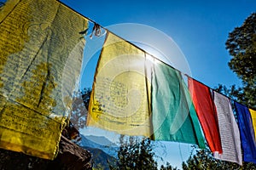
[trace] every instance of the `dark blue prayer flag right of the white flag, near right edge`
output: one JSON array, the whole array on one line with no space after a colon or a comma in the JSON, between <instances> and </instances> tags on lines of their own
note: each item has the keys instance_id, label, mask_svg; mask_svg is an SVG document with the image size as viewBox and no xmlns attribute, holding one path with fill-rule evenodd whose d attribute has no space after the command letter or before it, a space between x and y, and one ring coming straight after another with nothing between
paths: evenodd
<instances>
[{"instance_id":1,"label":"dark blue prayer flag right of the white flag, near right edge","mask_svg":"<svg viewBox=\"0 0 256 170\"><path fill-rule=\"evenodd\" d=\"M256 163L256 141L253 122L248 108L235 101L236 116L241 135L243 161Z\"/></svg>"}]
</instances>

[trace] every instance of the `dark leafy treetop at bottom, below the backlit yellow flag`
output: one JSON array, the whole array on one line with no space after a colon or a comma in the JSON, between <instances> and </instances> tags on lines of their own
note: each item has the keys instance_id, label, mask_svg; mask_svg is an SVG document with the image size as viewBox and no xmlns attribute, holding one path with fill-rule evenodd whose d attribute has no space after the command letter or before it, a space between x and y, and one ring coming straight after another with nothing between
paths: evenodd
<instances>
[{"instance_id":1,"label":"dark leafy treetop at bottom, below the backlit yellow flag","mask_svg":"<svg viewBox=\"0 0 256 170\"><path fill-rule=\"evenodd\" d=\"M118 161L110 164L111 170L157 170L154 161L154 144L150 139L138 139L121 135L118 151Z\"/></svg>"}]
</instances>

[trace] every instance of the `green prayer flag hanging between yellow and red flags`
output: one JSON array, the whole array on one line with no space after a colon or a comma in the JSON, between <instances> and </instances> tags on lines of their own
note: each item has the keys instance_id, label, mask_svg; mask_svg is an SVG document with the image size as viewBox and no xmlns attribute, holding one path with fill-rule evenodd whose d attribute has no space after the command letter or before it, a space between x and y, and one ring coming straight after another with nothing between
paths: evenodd
<instances>
[{"instance_id":1,"label":"green prayer flag hanging between yellow and red flags","mask_svg":"<svg viewBox=\"0 0 256 170\"><path fill-rule=\"evenodd\" d=\"M180 72L154 61L151 83L154 139L205 148L195 108Z\"/></svg>"}]
</instances>

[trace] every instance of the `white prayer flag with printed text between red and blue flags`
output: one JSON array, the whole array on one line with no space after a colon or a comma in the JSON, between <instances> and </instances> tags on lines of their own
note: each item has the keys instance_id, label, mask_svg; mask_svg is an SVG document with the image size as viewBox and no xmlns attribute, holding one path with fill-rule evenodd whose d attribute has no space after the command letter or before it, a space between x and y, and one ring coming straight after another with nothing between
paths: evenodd
<instances>
[{"instance_id":1,"label":"white prayer flag with printed text between red and blue flags","mask_svg":"<svg viewBox=\"0 0 256 170\"><path fill-rule=\"evenodd\" d=\"M215 91L213 91L213 99L217 109L218 127L223 150L222 154L213 153L214 157L241 165L240 132L230 105L230 99Z\"/></svg>"}]
</instances>

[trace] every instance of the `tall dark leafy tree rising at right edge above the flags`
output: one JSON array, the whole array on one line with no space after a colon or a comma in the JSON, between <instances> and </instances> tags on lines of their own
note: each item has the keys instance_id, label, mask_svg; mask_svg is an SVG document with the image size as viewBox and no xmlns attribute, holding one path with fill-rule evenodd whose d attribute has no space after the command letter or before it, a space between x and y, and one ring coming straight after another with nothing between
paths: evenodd
<instances>
[{"instance_id":1,"label":"tall dark leafy tree rising at right edge above the flags","mask_svg":"<svg viewBox=\"0 0 256 170\"><path fill-rule=\"evenodd\" d=\"M236 99L256 109L256 13L251 14L242 26L231 31L226 49L233 57L229 66L242 81L242 88L233 87Z\"/></svg>"}]
</instances>

